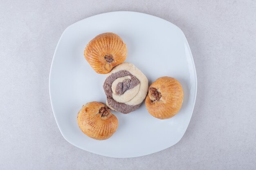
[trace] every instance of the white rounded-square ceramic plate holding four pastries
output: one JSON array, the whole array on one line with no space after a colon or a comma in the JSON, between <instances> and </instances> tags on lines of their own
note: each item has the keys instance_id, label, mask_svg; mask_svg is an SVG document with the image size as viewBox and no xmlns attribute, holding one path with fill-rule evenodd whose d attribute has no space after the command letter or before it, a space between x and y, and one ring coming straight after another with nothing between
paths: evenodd
<instances>
[{"instance_id":1,"label":"white rounded-square ceramic plate holding four pastries","mask_svg":"<svg viewBox=\"0 0 256 170\"><path fill-rule=\"evenodd\" d=\"M171 76L180 81L184 100L171 119L151 116L145 104L132 113L114 113L117 132L97 141L84 135L76 116L87 102L106 102L102 85L106 75L97 74L84 59L86 44L105 32L118 34L127 45L127 60L149 80ZM189 125L195 104L197 79L189 44L174 24L152 15L119 11L76 22L63 32L56 47L49 77L54 117L63 137L78 148L108 157L139 157L176 144Z\"/></svg>"}]
</instances>

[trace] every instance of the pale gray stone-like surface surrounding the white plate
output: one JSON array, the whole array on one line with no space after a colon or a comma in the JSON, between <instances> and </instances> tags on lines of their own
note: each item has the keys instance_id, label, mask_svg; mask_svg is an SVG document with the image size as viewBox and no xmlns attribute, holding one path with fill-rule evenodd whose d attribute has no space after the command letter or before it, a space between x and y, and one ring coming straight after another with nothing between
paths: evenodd
<instances>
[{"instance_id":1,"label":"pale gray stone-like surface surrounding the white plate","mask_svg":"<svg viewBox=\"0 0 256 170\"><path fill-rule=\"evenodd\" d=\"M70 24L99 13L138 11L179 26L190 44L198 94L181 141L115 159L62 137L49 99L56 44ZM255 0L0 0L1 170L255 170Z\"/></svg>"}]
</instances>

